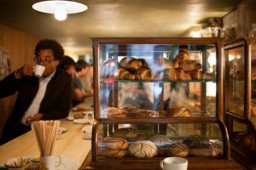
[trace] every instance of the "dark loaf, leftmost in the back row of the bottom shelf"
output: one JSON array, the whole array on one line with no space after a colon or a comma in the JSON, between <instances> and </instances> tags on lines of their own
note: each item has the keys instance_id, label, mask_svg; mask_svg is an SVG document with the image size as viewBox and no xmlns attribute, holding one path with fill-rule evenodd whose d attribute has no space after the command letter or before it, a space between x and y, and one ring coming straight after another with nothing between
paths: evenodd
<instances>
[{"instance_id":1,"label":"dark loaf, leftmost in the back row of the bottom shelf","mask_svg":"<svg viewBox=\"0 0 256 170\"><path fill-rule=\"evenodd\" d=\"M112 136L118 137L118 138L132 139L132 138L136 138L138 134L139 132L136 128L124 127L124 128L116 129L113 132Z\"/></svg>"}]
</instances>

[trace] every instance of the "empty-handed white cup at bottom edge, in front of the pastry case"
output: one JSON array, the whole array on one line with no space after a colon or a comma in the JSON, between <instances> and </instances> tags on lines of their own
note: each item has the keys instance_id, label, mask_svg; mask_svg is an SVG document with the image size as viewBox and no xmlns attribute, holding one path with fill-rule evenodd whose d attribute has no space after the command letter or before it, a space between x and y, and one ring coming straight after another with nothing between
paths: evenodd
<instances>
[{"instance_id":1,"label":"empty-handed white cup at bottom edge, in front of the pastry case","mask_svg":"<svg viewBox=\"0 0 256 170\"><path fill-rule=\"evenodd\" d=\"M163 170L187 170L188 160L182 157L166 157L160 161L160 167Z\"/></svg>"}]
</instances>

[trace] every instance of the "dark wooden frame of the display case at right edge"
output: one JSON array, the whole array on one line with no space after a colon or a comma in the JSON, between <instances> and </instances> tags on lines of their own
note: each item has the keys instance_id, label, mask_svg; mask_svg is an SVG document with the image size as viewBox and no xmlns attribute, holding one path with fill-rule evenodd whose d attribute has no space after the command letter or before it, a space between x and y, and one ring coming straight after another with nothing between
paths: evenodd
<instances>
[{"instance_id":1,"label":"dark wooden frame of the display case at right edge","mask_svg":"<svg viewBox=\"0 0 256 170\"><path fill-rule=\"evenodd\" d=\"M243 98L243 105L244 110L242 116L230 112L225 111L226 113L226 125L230 134L230 148L232 157L234 157L237 161L239 161L243 166L247 167L248 169L255 169L256 163L255 163L255 157L256 154L253 153L251 150L248 150L241 144L238 144L235 139L232 138L231 133L233 133L233 121L236 120L237 122L241 122L247 126L247 132L254 133L254 136L256 136L256 130L255 127L253 127L253 122L251 121L251 99L252 99L252 78L251 78L251 72L252 72L252 54L251 54L251 48L252 48L252 42L256 42L255 38L241 38L233 42L228 42L224 45L225 50L225 59L226 63L228 64L228 56L227 52L230 49L235 48L243 48L243 58L244 58L244 75L243 75L243 82L244 82L244 98ZM226 69L228 69L228 65L226 66ZM228 70L226 71L226 77L229 77ZM229 93L230 88L228 87L228 84L226 85L226 108L228 107L229 102Z\"/></svg>"}]
</instances>

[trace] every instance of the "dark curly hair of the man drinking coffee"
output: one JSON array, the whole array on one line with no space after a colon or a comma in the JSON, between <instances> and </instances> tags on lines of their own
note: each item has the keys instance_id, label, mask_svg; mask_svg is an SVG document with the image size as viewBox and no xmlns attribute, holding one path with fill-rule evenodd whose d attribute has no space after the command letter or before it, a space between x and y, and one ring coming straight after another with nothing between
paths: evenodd
<instances>
[{"instance_id":1,"label":"dark curly hair of the man drinking coffee","mask_svg":"<svg viewBox=\"0 0 256 170\"><path fill-rule=\"evenodd\" d=\"M62 60L64 56L64 49L59 42L51 39L44 39L38 42L34 54L38 56L39 50L41 49L52 49L56 60Z\"/></svg>"}]
</instances>

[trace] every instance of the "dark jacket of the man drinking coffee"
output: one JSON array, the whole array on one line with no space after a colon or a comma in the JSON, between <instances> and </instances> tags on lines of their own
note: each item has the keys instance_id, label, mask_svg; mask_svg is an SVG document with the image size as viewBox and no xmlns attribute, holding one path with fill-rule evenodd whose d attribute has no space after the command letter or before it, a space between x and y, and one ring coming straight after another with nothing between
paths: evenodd
<instances>
[{"instance_id":1,"label":"dark jacket of the man drinking coffee","mask_svg":"<svg viewBox=\"0 0 256 170\"><path fill-rule=\"evenodd\" d=\"M64 118L73 100L73 80L65 71L56 69L55 76L49 81L44 98L39 107L39 113L43 114L42 120L54 120ZM38 77L15 78L13 72L0 82L0 97L6 97L18 92L14 109L6 122L3 133L15 128L21 122L26 110L32 103L38 92Z\"/></svg>"}]
</instances>

